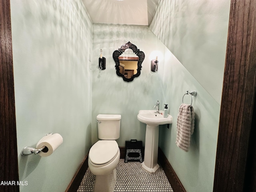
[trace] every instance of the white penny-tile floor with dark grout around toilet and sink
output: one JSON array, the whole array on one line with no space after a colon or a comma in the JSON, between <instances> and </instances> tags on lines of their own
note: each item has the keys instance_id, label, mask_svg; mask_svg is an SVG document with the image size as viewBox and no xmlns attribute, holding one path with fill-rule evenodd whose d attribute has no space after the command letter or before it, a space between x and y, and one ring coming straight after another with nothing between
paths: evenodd
<instances>
[{"instance_id":1,"label":"white penny-tile floor with dark grout around toilet and sink","mask_svg":"<svg viewBox=\"0 0 256 192\"><path fill-rule=\"evenodd\" d=\"M173 192L161 166L156 174L149 174L142 170L140 162L124 163L120 159L116 171L114 192ZM94 180L88 168L77 192L92 192Z\"/></svg>"}]
</instances>

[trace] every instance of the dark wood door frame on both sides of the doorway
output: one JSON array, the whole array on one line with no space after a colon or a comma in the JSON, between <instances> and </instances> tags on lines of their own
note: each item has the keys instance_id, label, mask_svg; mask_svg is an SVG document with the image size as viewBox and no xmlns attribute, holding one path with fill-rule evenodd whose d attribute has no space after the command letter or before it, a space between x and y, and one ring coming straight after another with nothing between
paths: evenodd
<instances>
[{"instance_id":1,"label":"dark wood door frame on both sides of the doorway","mask_svg":"<svg viewBox=\"0 0 256 192\"><path fill-rule=\"evenodd\" d=\"M256 82L255 4L231 0L214 192L242 191L244 185ZM0 0L0 180L18 180L10 23L10 0Z\"/></svg>"}]
</instances>

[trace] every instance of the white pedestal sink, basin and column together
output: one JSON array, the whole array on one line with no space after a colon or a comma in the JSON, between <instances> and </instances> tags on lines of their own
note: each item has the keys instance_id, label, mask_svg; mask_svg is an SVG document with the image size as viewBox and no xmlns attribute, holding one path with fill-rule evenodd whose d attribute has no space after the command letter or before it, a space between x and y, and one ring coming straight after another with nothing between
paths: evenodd
<instances>
[{"instance_id":1,"label":"white pedestal sink, basin and column together","mask_svg":"<svg viewBox=\"0 0 256 192\"><path fill-rule=\"evenodd\" d=\"M159 125L172 123L172 116L168 114L167 118L164 118L163 111L160 111L160 113L162 114L156 113L156 110L140 110L137 115L138 120L146 124L145 154L142 169L150 174L155 174L159 169L157 163Z\"/></svg>"}]
</instances>

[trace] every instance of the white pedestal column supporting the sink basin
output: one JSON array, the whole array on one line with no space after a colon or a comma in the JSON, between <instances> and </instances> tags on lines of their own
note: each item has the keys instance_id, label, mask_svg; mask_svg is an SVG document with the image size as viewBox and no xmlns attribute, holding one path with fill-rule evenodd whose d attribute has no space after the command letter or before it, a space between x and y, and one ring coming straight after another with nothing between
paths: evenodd
<instances>
[{"instance_id":1,"label":"white pedestal column supporting the sink basin","mask_svg":"<svg viewBox=\"0 0 256 192\"><path fill-rule=\"evenodd\" d=\"M159 126L146 126L145 153L142 169L150 174L155 174L159 169L158 158Z\"/></svg>"}]
</instances>

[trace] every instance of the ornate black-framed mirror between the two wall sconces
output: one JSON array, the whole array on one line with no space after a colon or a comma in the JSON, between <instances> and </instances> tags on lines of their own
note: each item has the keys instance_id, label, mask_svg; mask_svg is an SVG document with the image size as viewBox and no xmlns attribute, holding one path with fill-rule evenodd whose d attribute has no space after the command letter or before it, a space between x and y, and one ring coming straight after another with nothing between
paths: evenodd
<instances>
[{"instance_id":1,"label":"ornate black-framed mirror between the two wall sconces","mask_svg":"<svg viewBox=\"0 0 256 192\"><path fill-rule=\"evenodd\" d=\"M144 52L136 45L128 42L113 52L113 59L116 63L116 74L124 81L130 82L140 76L141 64L145 58Z\"/></svg>"}]
</instances>

